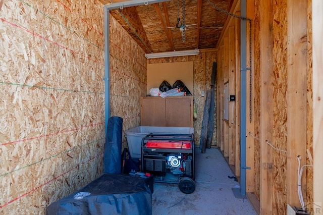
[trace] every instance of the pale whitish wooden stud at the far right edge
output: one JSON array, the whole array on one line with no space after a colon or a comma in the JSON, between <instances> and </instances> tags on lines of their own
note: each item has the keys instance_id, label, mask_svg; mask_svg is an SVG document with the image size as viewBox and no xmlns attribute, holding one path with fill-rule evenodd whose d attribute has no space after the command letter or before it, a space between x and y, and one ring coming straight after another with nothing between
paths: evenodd
<instances>
[{"instance_id":1,"label":"pale whitish wooden stud at the far right edge","mask_svg":"<svg viewBox=\"0 0 323 215\"><path fill-rule=\"evenodd\" d=\"M321 23L323 2L313 0L312 2L312 22L313 22L313 158L314 158L314 202L315 214L323 214L323 186L322 186L322 164L323 156L323 28Z\"/></svg>"}]
</instances>

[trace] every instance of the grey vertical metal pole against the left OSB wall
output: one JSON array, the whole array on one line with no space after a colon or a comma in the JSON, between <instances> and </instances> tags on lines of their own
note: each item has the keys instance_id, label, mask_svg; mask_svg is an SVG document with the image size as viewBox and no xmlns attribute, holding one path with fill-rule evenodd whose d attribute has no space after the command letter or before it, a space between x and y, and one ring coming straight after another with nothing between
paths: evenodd
<instances>
[{"instance_id":1,"label":"grey vertical metal pole against the left OSB wall","mask_svg":"<svg viewBox=\"0 0 323 215\"><path fill-rule=\"evenodd\" d=\"M107 135L107 121L110 118L110 42L109 42L109 14L104 6L104 112L105 112L105 136Z\"/></svg>"}]
</instances>

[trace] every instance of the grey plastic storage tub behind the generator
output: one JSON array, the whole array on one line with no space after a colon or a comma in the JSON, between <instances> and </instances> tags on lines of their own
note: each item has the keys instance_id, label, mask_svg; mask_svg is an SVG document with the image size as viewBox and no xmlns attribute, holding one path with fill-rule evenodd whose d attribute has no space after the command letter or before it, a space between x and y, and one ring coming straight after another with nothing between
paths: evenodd
<instances>
[{"instance_id":1,"label":"grey plastic storage tub behind the generator","mask_svg":"<svg viewBox=\"0 0 323 215\"><path fill-rule=\"evenodd\" d=\"M147 134L193 134L194 129L191 127L137 126L127 130L125 133L131 157L141 158L141 141Z\"/></svg>"}]
</instances>

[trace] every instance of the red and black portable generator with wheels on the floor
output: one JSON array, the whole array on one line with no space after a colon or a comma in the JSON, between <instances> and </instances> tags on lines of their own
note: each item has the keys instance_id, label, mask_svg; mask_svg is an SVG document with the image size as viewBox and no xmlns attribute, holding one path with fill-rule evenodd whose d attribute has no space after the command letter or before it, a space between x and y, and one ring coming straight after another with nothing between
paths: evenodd
<instances>
[{"instance_id":1,"label":"red and black portable generator with wheels on the floor","mask_svg":"<svg viewBox=\"0 0 323 215\"><path fill-rule=\"evenodd\" d=\"M183 193L195 190L193 134L147 134L141 142L141 168L154 182L178 184Z\"/></svg>"}]
</instances>

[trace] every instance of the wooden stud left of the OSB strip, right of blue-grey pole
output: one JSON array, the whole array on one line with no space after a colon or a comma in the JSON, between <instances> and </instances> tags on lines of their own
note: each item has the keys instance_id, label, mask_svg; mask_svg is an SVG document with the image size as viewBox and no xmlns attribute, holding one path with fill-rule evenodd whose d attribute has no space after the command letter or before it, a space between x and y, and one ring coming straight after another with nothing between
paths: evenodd
<instances>
[{"instance_id":1,"label":"wooden stud left of the OSB strip, right of blue-grey pole","mask_svg":"<svg viewBox=\"0 0 323 215\"><path fill-rule=\"evenodd\" d=\"M273 2L260 0L260 213L273 214Z\"/></svg>"}]
</instances>

